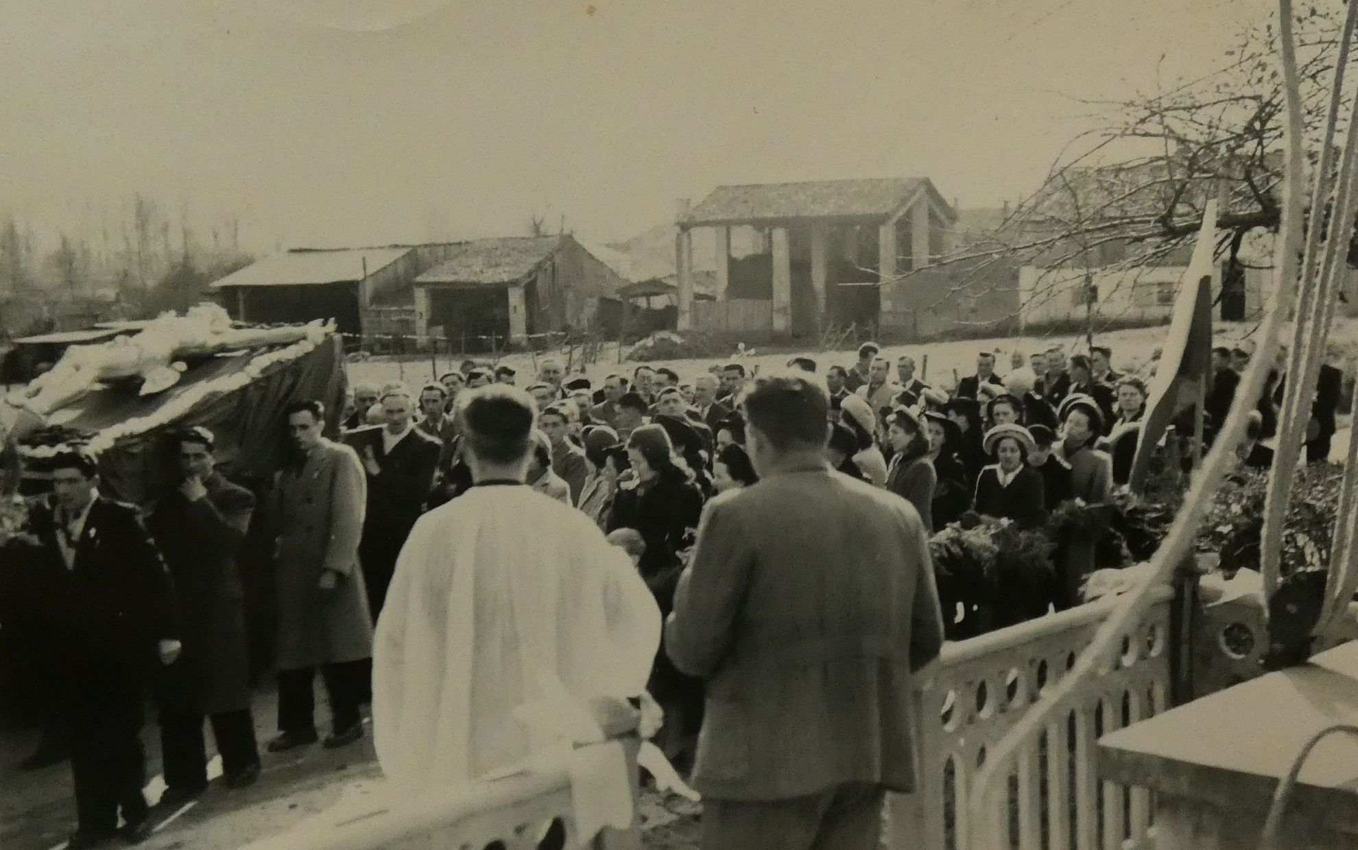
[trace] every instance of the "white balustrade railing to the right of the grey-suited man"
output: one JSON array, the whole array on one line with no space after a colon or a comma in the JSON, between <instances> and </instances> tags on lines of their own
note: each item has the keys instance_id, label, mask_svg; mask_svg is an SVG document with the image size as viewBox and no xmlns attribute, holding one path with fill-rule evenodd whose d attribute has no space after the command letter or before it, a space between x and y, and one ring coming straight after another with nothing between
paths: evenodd
<instances>
[{"instance_id":1,"label":"white balustrade railing to the right of the grey-suited man","mask_svg":"<svg viewBox=\"0 0 1358 850\"><path fill-rule=\"evenodd\" d=\"M1126 838L1145 838L1149 794L1100 783L1095 740L1167 706L1173 591L1156 593L1123 635L1118 661L1078 694L1063 722L1048 724L1020 755L1008 794L1012 847L1118 849ZM892 800L892 849L1002 850L978 847L971 838L978 831L967 824L968 788L990 748L1066 675L1118 604L1109 597L944 645L918 676L918 790Z\"/></svg>"}]
</instances>

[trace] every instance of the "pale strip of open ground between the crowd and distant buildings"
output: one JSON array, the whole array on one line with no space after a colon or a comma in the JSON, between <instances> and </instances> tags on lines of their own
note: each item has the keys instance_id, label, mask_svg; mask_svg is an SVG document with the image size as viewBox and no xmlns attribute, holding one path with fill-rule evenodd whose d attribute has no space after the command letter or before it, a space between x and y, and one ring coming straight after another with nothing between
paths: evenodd
<instances>
[{"instance_id":1,"label":"pale strip of open ground between the crowd and distant buildings","mask_svg":"<svg viewBox=\"0 0 1358 850\"><path fill-rule=\"evenodd\" d=\"M1225 342L1233 342L1236 339L1243 339L1249 337L1256 329L1255 323L1218 323L1217 337ZM1120 372L1134 371L1146 360L1150 358L1152 352L1157 345L1164 341L1168 331L1168 326L1161 327L1141 327L1133 330L1116 330L1105 334L1099 334L1095 339L1097 345L1105 345L1112 349L1114 368ZM1283 337L1287 339L1290 337L1290 330ZM1335 322L1335 329L1331 334L1331 339L1339 345L1348 349L1350 354L1358 354L1358 319L1339 318ZM1065 346L1067 353L1080 353L1085 350L1085 341L1082 337L1076 335L1054 335L1054 337L1008 337L1008 338L994 338L994 339L961 339L961 341L941 341L929 342L923 345L891 345L883 352L884 356L889 357L892 361L900 354L913 354L915 357L915 364L918 372L923 380L941 384L944 387L951 387L955 382L953 375L959 377L964 375L971 375L975 372L976 367L976 353L978 352L994 352L997 356L997 371L1005 373L1009 371L1009 356L1010 352L1019 350L1024 354L1032 352L1044 350L1052 345ZM842 365L850 367L857 354L853 350L839 350L839 352L813 352L805 350L800 352L808 357L816 360L820 372L824 372L827 367ZM627 373L638 365L633 361L618 361L618 352L615 348L607 349L607 357L599 363L593 363L585 367L584 375L591 379L595 387L600 386L602 380L612 373ZM746 365L747 369L754 369L758 367L760 371L770 371L782 368L788 358L793 353L782 350L777 354L763 354L755 349L752 356L737 357L736 352L732 350L731 356L718 358L694 358L694 360L657 360L649 361L648 365L652 367L669 367L674 369L680 380L691 382L698 375L708 371L709 367L717 363L731 363L739 361ZM501 358L500 363L507 363L519 372L519 386L526 387L532 383L536 375L535 364L545 357L555 357L565 365L565 357L557 353L515 353L508 354ZM928 360L926 360L928 358ZM489 363L489 358L483 360ZM424 382L432 380L435 372L444 372L451 368L456 368L460 358L456 361L449 361L448 358L439 358L437 367L430 363L428 357L413 358L407 357L403 360L375 357L367 361L357 361L349 364L349 379L352 383L371 383L376 386L383 386L391 382L406 382L411 386L421 384ZM572 367L572 375L580 375L581 371L579 365Z\"/></svg>"}]
</instances>

